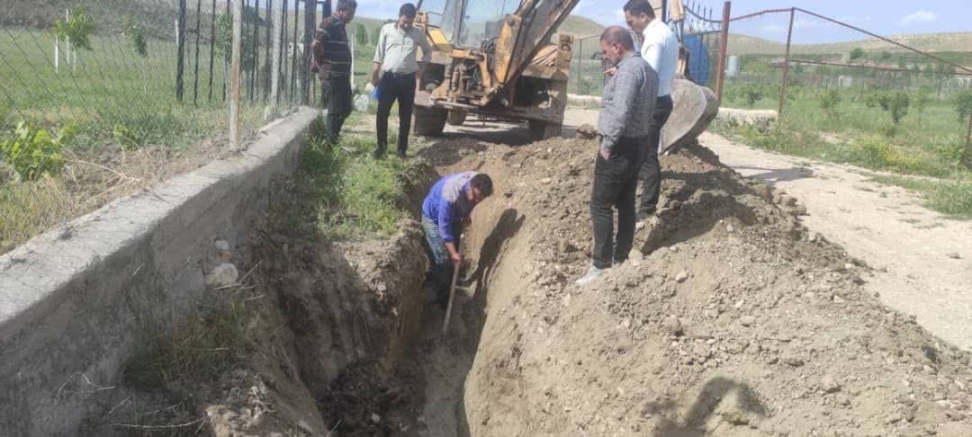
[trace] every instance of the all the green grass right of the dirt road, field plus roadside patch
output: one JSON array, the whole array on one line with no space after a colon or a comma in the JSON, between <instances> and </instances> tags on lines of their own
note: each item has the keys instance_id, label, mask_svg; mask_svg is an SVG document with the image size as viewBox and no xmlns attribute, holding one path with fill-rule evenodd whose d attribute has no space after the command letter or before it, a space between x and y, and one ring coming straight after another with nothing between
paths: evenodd
<instances>
[{"instance_id":1,"label":"all the green grass right of the dirt road, field plus roadside patch","mask_svg":"<svg viewBox=\"0 0 972 437\"><path fill-rule=\"evenodd\" d=\"M836 118L823 115L814 93L797 89L794 95L796 98L787 102L784 119L768 131L727 123L715 123L712 128L766 151L941 179L929 182L894 176L876 180L919 192L925 205L939 213L972 217L972 183L969 182L972 172L957 165L964 138L959 132L955 110L947 102L929 105L920 123L913 108L897 127L897 134L888 137L882 131L890 124L890 117L880 109L867 108L862 102L854 101L852 92L844 93L838 106L840 115ZM746 107L742 97L730 100L728 105ZM771 109L775 105L775 98L764 98L754 107ZM821 133L838 139L826 141Z\"/></svg>"}]
</instances>

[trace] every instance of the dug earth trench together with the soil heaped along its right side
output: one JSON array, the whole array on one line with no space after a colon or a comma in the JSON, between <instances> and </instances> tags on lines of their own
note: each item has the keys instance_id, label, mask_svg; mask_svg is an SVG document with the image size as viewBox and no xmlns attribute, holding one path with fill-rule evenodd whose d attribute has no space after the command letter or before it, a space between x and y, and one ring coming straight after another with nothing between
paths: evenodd
<instances>
[{"instance_id":1,"label":"dug earth trench together with the soil heaped along its right side","mask_svg":"<svg viewBox=\"0 0 972 437\"><path fill-rule=\"evenodd\" d=\"M417 223L331 244L266 220L250 242L248 364L197 390L219 436L961 436L970 355L862 288L870 268L705 148L662 159L661 210L599 283L596 145L453 138L434 177L489 173L443 337ZM285 187L286 188L286 187ZM287 191L287 189L284 189ZM780 200L780 199L777 199ZM285 202L286 203L286 202ZM778 204L780 203L780 204ZM295 206L286 217L309 214ZM108 435L108 434L105 434ZM192 435L192 434L189 434Z\"/></svg>"}]
</instances>

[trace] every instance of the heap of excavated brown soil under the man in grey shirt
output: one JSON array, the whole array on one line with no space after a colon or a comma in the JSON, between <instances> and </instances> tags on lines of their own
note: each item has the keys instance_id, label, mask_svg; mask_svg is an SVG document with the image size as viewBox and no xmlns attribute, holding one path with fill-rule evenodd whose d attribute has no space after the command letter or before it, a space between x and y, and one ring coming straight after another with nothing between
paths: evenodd
<instances>
[{"instance_id":1,"label":"heap of excavated brown soil under the man in grey shirt","mask_svg":"<svg viewBox=\"0 0 972 437\"><path fill-rule=\"evenodd\" d=\"M420 421L457 429L427 435L972 435L969 354L866 294L870 269L808 234L795 199L700 146L662 158L662 209L640 251L574 286L589 262L595 151L586 140L426 151L440 173L497 183L464 243L476 286L454 338L425 347L438 360L430 402L460 392ZM436 378L464 384L436 393Z\"/></svg>"}]
</instances>

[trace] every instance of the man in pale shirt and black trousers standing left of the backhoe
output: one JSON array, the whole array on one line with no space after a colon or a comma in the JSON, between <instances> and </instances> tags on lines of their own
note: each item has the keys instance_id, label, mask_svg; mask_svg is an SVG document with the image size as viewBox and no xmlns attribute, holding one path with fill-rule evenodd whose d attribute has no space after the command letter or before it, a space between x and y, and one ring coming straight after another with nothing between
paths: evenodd
<instances>
[{"instance_id":1,"label":"man in pale shirt and black trousers standing left of the backhoe","mask_svg":"<svg viewBox=\"0 0 972 437\"><path fill-rule=\"evenodd\" d=\"M378 149L374 156L380 158L388 148L388 117L392 104L399 102L399 156L408 151L408 130L412 126L412 109L415 106L415 88L422 78L426 63L432 59L432 48L425 33L414 26L418 12L415 5L406 3L399 9L399 20L385 24L374 50L374 71L371 84L378 87ZM422 60L418 60L418 48L422 48Z\"/></svg>"}]
</instances>

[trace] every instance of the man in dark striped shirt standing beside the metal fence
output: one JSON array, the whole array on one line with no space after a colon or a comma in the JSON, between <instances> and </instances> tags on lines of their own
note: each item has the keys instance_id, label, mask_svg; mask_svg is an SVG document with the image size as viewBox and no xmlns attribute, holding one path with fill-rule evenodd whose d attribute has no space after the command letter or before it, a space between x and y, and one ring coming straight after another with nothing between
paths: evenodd
<instances>
[{"instance_id":1,"label":"man in dark striped shirt standing beside the metal fence","mask_svg":"<svg viewBox=\"0 0 972 437\"><path fill-rule=\"evenodd\" d=\"M355 17L358 2L338 0L334 14L321 21L314 34L311 70L321 77L321 98L328 110L328 142L337 143L345 118L351 115L351 47L345 26Z\"/></svg>"}]
</instances>

